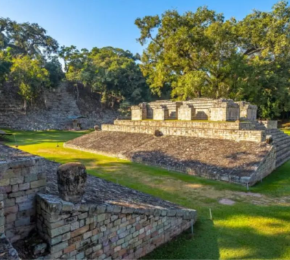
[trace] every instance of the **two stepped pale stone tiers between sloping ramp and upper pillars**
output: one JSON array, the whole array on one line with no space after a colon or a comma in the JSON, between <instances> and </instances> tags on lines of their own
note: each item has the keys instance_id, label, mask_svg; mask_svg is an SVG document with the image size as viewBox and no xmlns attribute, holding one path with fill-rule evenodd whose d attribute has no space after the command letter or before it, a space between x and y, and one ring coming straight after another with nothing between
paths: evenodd
<instances>
[{"instance_id":1,"label":"two stepped pale stone tiers between sloping ramp and upper pillars","mask_svg":"<svg viewBox=\"0 0 290 260\"><path fill-rule=\"evenodd\" d=\"M249 122L182 122L172 120L115 120L114 125L101 125L104 131L121 131L126 133L188 136L194 138L214 138L235 141L263 142L265 131L254 129Z\"/></svg>"}]
</instances>

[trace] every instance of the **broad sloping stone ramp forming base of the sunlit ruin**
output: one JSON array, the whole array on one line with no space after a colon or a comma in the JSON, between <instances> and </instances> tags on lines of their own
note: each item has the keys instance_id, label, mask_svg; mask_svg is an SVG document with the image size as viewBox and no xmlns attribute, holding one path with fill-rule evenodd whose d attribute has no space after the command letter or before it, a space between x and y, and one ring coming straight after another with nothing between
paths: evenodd
<instances>
[{"instance_id":1,"label":"broad sloping stone ramp forming base of the sunlit ruin","mask_svg":"<svg viewBox=\"0 0 290 260\"><path fill-rule=\"evenodd\" d=\"M276 162L275 149L265 142L122 131L95 131L64 146L242 185L263 179Z\"/></svg>"}]
</instances>

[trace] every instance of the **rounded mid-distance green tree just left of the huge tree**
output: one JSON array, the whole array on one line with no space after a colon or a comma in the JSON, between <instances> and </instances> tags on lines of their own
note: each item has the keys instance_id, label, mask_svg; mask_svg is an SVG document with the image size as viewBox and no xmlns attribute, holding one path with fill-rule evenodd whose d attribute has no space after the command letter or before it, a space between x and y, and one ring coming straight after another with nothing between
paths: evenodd
<instances>
[{"instance_id":1,"label":"rounded mid-distance green tree just left of the huge tree","mask_svg":"<svg viewBox=\"0 0 290 260\"><path fill-rule=\"evenodd\" d=\"M138 103L149 98L145 77L136 63L138 55L119 48L105 47L94 48L90 59L97 68L93 86L112 98L112 106L114 101Z\"/></svg>"}]
</instances>

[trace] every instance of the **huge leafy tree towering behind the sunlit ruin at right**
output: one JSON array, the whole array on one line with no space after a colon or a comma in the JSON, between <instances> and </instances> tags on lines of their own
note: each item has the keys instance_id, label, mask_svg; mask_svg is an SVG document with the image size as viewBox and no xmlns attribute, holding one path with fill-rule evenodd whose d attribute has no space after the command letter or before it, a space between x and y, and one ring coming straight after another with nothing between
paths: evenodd
<instances>
[{"instance_id":1,"label":"huge leafy tree towering behind the sunlit ruin at right","mask_svg":"<svg viewBox=\"0 0 290 260\"><path fill-rule=\"evenodd\" d=\"M152 92L171 97L247 99L264 118L289 111L290 8L225 20L208 8L137 18L138 41L149 44L141 70ZM287 51L288 50L288 51Z\"/></svg>"}]
</instances>

